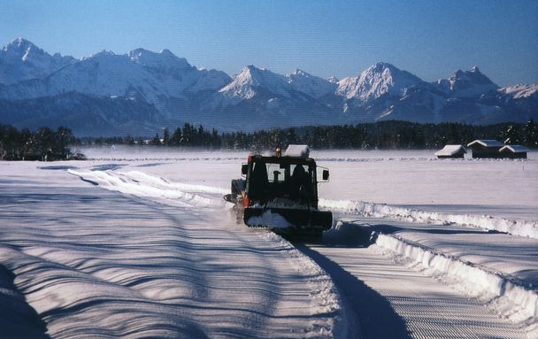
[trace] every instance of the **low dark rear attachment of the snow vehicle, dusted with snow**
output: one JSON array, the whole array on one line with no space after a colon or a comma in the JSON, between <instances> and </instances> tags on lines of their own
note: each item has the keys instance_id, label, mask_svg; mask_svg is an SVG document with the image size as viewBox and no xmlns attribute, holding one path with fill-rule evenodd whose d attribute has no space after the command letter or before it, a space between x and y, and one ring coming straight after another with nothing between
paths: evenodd
<instances>
[{"instance_id":1,"label":"low dark rear attachment of the snow vehicle, dusted with snow","mask_svg":"<svg viewBox=\"0 0 538 339\"><path fill-rule=\"evenodd\" d=\"M243 221L249 227L267 227L281 235L321 235L333 226L333 213L289 208L245 208Z\"/></svg>"}]
</instances>

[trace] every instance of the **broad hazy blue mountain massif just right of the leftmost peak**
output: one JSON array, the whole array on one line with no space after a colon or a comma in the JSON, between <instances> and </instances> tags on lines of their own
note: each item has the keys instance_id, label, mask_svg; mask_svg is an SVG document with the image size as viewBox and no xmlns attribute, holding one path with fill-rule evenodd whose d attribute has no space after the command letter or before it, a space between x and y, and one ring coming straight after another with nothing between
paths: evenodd
<instances>
[{"instance_id":1,"label":"broad hazy blue mountain massif just right of the leftmost peak","mask_svg":"<svg viewBox=\"0 0 538 339\"><path fill-rule=\"evenodd\" d=\"M12 100L57 96L76 91L95 96L139 96L165 108L170 98L216 91L230 81L226 73L198 70L169 50L133 50L125 55L102 51L40 79L4 86L0 97Z\"/></svg>"}]
</instances>

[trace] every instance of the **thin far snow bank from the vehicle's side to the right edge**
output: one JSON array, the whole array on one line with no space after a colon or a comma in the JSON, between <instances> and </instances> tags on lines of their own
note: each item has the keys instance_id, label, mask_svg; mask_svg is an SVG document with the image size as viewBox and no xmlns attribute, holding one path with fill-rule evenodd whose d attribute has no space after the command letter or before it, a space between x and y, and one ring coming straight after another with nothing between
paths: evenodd
<instances>
[{"instance_id":1,"label":"thin far snow bank from the vehicle's side to the right edge","mask_svg":"<svg viewBox=\"0 0 538 339\"><path fill-rule=\"evenodd\" d=\"M489 215L419 211L396 205L351 200L319 199L319 207L375 218L466 225L538 239L538 221L536 220L510 220Z\"/></svg>"}]
</instances>

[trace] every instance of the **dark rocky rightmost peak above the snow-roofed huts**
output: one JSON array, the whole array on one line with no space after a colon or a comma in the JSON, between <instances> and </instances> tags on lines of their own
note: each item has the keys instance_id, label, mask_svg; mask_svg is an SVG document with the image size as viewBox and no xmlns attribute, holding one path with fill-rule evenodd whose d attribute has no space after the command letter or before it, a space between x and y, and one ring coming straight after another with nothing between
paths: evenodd
<instances>
[{"instance_id":1,"label":"dark rocky rightmost peak above the snow-roofed huts","mask_svg":"<svg viewBox=\"0 0 538 339\"><path fill-rule=\"evenodd\" d=\"M442 92L456 97L479 96L499 87L480 72L477 66L468 71L458 70L452 73L449 79L440 79L436 82Z\"/></svg>"}]
</instances>

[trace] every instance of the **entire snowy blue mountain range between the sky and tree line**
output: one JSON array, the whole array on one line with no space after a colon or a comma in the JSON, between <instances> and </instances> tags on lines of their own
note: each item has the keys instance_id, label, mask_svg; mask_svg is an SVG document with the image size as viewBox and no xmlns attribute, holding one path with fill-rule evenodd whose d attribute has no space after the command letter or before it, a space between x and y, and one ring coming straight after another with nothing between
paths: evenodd
<instances>
[{"instance_id":1,"label":"entire snowy blue mountain range between the sky and tree line","mask_svg":"<svg viewBox=\"0 0 538 339\"><path fill-rule=\"evenodd\" d=\"M0 123L65 125L77 135L154 135L184 122L221 131L381 119L524 122L538 118L537 91L536 84L501 89L478 67L434 82L388 63L340 81L254 65L232 78L170 50L75 59L21 38L0 50Z\"/></svg>"}]
</instances>

